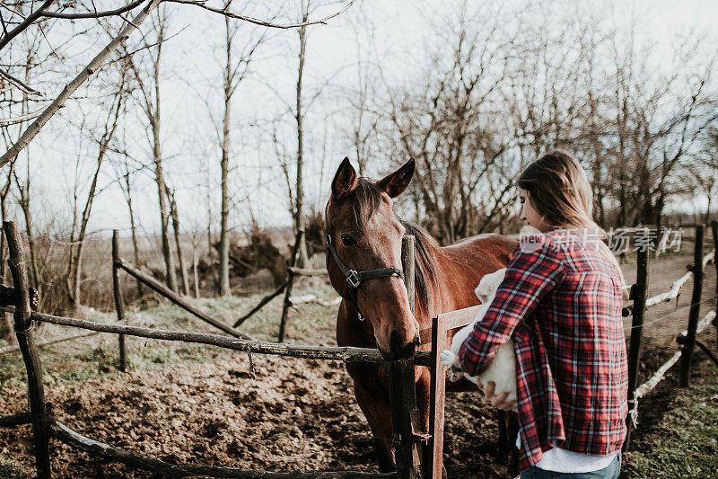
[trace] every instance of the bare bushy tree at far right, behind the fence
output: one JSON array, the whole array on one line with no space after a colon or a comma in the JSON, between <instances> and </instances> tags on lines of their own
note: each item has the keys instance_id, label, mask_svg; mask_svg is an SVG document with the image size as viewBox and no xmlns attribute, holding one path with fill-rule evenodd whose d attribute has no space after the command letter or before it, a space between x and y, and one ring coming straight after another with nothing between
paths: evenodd
<instances>
[{"instance_id":1,"label":"bare bushy tree at far right, behind the fence","mask_svg":"<svg viewBox=\"0 0 718 479\"><path fill-rule=\"evenodd\" d=\"M617 224L660 226L666 204L681 191L675 179L690 151L718 118L709 84L715 59L701 67L695 40L675 42L675 59L655 75L647 55L618 34L613 39L612 115L616 157Z\"/></svg>"}]
</instances>

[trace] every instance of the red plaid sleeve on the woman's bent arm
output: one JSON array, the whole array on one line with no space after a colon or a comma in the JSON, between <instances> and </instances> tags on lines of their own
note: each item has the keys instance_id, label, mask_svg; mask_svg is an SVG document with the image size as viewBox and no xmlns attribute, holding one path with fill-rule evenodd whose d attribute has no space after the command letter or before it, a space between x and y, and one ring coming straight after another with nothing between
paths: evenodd
<instances>
[{"instance_id":1,"label":"red plaid sleeve on the woman's bent arm","mask_svg":"<svg viewBox=\"0 0 718 479\"><path fill-rule=\"evenodd\" d=\"M524 240L506 267L486 315L474 325L459 350L461 368L470 376L488 367L498 347L511 338L516 324L558 284L562 260L559 250L551 247L551 238L531 235Z\"/></svg>"}]
</instances>

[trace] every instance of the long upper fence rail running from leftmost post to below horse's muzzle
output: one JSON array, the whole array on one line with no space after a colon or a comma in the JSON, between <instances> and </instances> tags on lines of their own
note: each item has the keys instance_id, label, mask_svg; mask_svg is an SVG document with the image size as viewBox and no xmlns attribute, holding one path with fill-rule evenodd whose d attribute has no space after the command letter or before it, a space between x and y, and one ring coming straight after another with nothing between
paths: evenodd
<instances>
[{"instance_id":1,"label":"long upper fence rail running from leftmost post to below horse's muzzle","mask_svg":"<svg viewBox=\"0 0 718 479\"><path fill-rule=\"evenodd\" d=\"M12 307L6 306L0 306L0 310L8 313L14 312ZM101 333L127 334L128 336L138 336L155 340L209 344L227 350L257 352L260 354L273 354L291 358L334 359L346 362L387 362L381 357L379 350L371 348L354 348L351 346L304 346L283 342L248 341L240 338L230 338L220 334L163 330L140 326L127 326L124 324L104 324L86 319L45 315L34 312L31 313L31 318L44 323L73 326L75 328L89 329ZM430 353L428 351L417 352L414 357L414 364L417 366L429 366Z\"/></svg>"}]
</instances>

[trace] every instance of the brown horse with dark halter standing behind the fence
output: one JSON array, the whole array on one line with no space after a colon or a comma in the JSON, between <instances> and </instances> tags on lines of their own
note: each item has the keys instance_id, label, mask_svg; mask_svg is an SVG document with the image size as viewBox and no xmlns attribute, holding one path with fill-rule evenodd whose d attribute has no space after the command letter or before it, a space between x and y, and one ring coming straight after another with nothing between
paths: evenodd
<instances>
[{"instance_id":1,"label":"brown horse with dark halter standing behind the fence","mask_svg":"<svg viewBox=\"0 0 718 479\"><path fill-rule=\"evenodd\" d=\"M417 349L431 350L432 318L479 304L474 294L479 280L505 267L518 246L511 238L485 234L442 247L422 228L401 221L392 199L407 188L414 168L410 160L380 182L369 182L359 178L345 158L332 182L325 211L328 250L334 249L327 254L329 279L343 297L337 314L337 343L379 348L384 359L411 358ZM416 237L415 315L398 272L403 235ZM351 288L347 283L351 271L383 273ZM449 336L451 343L451 332ZM386 367L347 363L346 370L354 379L356 401L372 430L380 470L390 472L394 453ZM418 409L428 430L429 368L416 367L415 379ZM447 389L469 385L468 381L450 383Z\"/></svg>"}]
</instances>

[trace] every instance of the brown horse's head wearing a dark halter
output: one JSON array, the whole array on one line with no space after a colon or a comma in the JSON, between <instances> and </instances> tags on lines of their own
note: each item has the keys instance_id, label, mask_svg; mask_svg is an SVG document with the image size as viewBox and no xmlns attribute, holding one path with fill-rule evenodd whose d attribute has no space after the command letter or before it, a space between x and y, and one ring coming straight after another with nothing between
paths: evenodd
<instances>
[{"instance_id":1,"label":"brown horse's head wearing a dark halter","mask_svg":"<svg viewBox=\"0 0 718 479\"><path fill-rule=\"evenodd\" d=\"M337 293L354 304L363 325L374 335L384 359L411 358L419 345L419 324L399 276L404 226L393 199L407 188L414 160L380 182L359 178L345 158L331 185L326 209L327 269ZM334 251L332 251L334 249ZM355 274L377 271L356 284ZM373 276L370 273L370 277Z\"/></svg>"}]
</instances>

